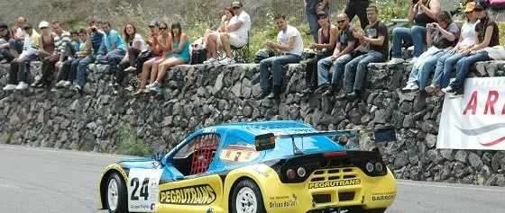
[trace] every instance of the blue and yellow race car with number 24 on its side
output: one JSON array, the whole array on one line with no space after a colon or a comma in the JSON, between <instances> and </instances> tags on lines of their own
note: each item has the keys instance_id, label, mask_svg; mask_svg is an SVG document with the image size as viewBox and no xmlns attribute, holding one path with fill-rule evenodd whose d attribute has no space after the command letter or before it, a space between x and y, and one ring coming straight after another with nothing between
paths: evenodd
<instances>
[{"instance_id":1,"label":"blue and yellow race car with number 24 on its side","mask_svg":"<svg viewBox=\"0 0 505 213\"><path fill-rule=\"evenodd\" d=\"M384 212L396 182L377 148L338 138L394 129L317 131L298 121L199 129L166 155L120 161L101 174L99 209L117 212ZM337 139L335 139L337 138Z\"/></svg>"}]
</instances>

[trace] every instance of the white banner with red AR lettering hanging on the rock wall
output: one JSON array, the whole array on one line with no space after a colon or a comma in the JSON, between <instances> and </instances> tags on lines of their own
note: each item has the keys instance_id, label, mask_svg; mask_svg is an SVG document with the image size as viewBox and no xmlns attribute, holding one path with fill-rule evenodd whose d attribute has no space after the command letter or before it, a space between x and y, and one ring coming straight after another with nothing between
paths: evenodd
<instances>
[{"instance_id":1,"label":"white banner with red AR lettering hanging on the rock wall","mask_svg":"<svg viewBox=\"0 0 505 213\"><path fill-rule=\"evenodd\" d=\"M445 96L436 147L505 150L505 77L468 78L463 98Z\"/></svg>"}]
</instances>

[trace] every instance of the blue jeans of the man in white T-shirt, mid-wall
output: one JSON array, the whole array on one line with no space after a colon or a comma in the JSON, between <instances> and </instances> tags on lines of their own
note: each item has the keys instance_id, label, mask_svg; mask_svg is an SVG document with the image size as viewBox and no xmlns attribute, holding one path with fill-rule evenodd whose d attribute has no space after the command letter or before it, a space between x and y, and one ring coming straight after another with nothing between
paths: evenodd
<instances>
[{"instance_id":1,"label":"blue jeans of the man in white T-shirt, mid-wall","mask_svg":"<svg viewBox=\"0 0 505 213\"><path fill-rule=\"evenodd\" d=\"M270 75L273 85L280 85L282 76L281 66L289 63L298 63L300 58L301 57L298 55L287 54L263 59L262 62L260 62L260 87L262 90L265 91L270 88ZM269 70L270 68L271 71Z\"/></svg>"}]
</instances>

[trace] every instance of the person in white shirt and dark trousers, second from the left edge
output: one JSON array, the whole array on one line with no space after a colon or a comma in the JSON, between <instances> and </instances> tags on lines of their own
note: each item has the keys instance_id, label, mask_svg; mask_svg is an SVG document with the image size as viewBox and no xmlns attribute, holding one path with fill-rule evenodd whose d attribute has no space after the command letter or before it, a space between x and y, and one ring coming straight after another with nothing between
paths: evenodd
<instances>
[{"instance_id":1,"label":"person in white shirt and dark trousers, second from the left edge","mask_svg":"<svg viewBox=\"0 0 505 213\"><path fill-rule=\"evenodd\" d=\"M24 90L28 88L27 74L30 72L30 62L39 58L39 33L33 31L32 24L24 24L23 31L26 32L23 41L23 52L19 58L15 58L11 62L9 71L9 82L5 85L4 90Z\"/></svg>"}]
</instances>

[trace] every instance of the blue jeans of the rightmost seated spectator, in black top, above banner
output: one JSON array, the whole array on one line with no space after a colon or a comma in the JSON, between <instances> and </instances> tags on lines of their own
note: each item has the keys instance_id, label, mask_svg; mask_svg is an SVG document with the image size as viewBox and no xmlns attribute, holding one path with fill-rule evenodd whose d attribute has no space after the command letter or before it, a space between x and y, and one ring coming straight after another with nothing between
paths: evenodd
<instances>
[{"instance_id":1,"label":"blue jeans of the rightmost seated spectator, in black top, above banner","mask_svg":"<svg viewBox=\"0 0 505 213\"><path fill-rule=\"evenodd\" d=\"M486 51L478 52L475 55L461 58L456 63L456 79L453 81L453 83L451 83L451 87L454 89L454 91L463 93L464 79L466 78L466 75L468 74L468 71L470 70L470 67L473 66L473 64L479 61L486 61L490 59L491 58L489 58L488 52Z\"/></svg>"}]
</instances>

